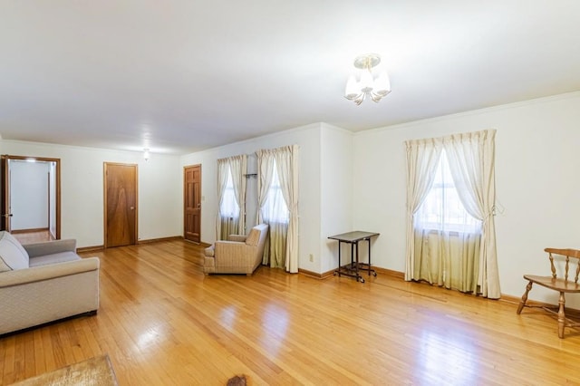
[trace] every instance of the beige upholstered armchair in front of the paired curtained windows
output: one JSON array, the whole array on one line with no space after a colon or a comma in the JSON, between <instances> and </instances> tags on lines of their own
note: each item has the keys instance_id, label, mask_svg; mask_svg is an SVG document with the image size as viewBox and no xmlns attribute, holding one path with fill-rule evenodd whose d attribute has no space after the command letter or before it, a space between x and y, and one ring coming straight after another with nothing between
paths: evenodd
<instances>
[{"instance_id":1,"label":"beige upholstered armchair in front of the paired curtained windows","mask_svg":"<svg viewBox=\"0 0 580 386\"><path fill-rule=\"evenodd\" d=\"M205 251L204 274L252 275L262 263L268 226L256 225L247 236L230 235Z\"/></svg>"}]
</instances>

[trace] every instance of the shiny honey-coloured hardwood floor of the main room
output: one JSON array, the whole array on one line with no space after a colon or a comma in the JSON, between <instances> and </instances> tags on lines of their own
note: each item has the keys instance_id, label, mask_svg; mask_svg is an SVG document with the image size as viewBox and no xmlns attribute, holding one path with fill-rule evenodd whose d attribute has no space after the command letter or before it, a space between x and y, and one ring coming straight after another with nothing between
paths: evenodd
<instances>
[{"instance_id":1,"label":"shiny honey-coloured hardwood floor of the main room","mask_svg":"<svg viewBox=\"0 0 580 386\"><path fill-rule=\"evenodd\" d=\"M580 333L517 304L381 273L204 276L180 240L83 255L99 313L0 338L1 384L104 353L121 385L580 383Z\"/></svg>"}]
</instances>

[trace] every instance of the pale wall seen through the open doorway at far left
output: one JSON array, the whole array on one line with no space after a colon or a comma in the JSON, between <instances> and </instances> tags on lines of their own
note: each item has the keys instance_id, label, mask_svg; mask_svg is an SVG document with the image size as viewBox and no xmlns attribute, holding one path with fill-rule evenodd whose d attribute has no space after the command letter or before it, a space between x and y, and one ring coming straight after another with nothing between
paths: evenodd
<instances>
[{"instance_id":1,"label":"pale wall seen through the open doorway at far left","mask_svg":"<svg viewBox=\"0 0 580 386\"><path fill-rule=\"evenodd\" d=\"M11 230L48 229L48 162L9 159Z\"/></svg>"}]
</instances>

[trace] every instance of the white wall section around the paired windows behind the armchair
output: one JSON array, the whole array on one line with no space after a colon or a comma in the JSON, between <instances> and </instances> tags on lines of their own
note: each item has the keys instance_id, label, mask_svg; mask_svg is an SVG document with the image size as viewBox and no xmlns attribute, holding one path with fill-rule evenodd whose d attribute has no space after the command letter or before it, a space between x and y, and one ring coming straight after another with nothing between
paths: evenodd
<instances>
[{"instance_id":1,"label":"white wall section around the paired windows behind the armchair","mask_svg":"<svg viewBox=\"0 0 580 386\"><path fill-rule=\"evenodd\" d=\"M320 256L320 136L321 124L316 123L295 130L286 130L253 140L245 140L220 148L215 148L181 157L181 165L201 165L201 240L213 243L216 240L216 219L218 216L218 159L239 154L251 155L260 149L275 149L297 144L300 147L300 196L299 196L299 264L300 268L311 266L309 254ZM248 161L248 170L256 172L255 158ZM250 181L248 189L256 186ZM183 187L183 181L180 184ZM183 191L183 188L180 188ZM248 192L248 200L257 198ZM182 193L181 193L182 194ZM251 207L251 206L248 206ZM256 207L256 206L254 206ZM247 213L256 218L256 213ZM248 219L248 224L250 220ZM319 264L319 263L318 263ZM308 269L308 268L305 268Z\"/></svg>"}]
</instances>

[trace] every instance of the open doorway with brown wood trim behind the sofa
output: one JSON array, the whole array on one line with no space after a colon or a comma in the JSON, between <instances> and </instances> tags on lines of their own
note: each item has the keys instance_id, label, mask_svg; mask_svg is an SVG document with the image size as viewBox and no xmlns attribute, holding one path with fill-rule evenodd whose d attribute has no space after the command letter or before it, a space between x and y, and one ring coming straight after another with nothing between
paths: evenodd
<instances>
[{"instance_id":1,"label":"open doorway with brown wood trim behind the sofa","mask_svg":"<svg viewBox=\"0 0 580 386\"><path fill-rule=\"evenodd\" d=\"M3 155L0 230L61 238L61 160Z\"/></svg>"}]
</instances>

